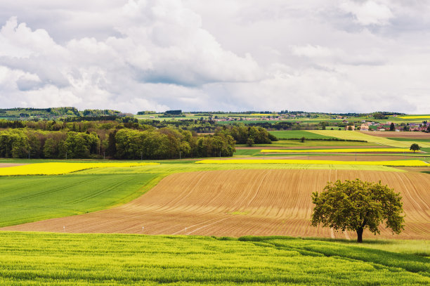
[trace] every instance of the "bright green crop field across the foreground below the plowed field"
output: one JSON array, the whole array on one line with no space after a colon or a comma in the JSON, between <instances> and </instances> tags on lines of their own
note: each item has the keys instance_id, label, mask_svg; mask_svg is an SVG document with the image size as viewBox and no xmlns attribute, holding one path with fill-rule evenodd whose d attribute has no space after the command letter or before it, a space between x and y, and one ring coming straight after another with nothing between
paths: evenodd
<instances>
[{"instance_id":1,"label":"bright green crop field across the foreground below the plowed field","mask_svg":"<svg viewBox=\"0 0 430 286\"><path fill-rule=\"evenodd\" d=\"M9 232L0 240L1 285L430 283L429 257L411 254L409 241Z\"/></svg>"}]
</instances>

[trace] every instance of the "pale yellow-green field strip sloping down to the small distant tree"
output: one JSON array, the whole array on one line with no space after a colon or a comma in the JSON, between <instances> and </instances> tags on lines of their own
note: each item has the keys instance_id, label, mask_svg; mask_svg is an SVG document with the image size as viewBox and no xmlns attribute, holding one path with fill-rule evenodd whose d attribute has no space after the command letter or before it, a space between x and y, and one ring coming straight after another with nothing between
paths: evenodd
<instances>
[{"instance_id":1,"label":"pale yellow-green field strip sloping down to the small distant tree","mask_svg":"<svg viewBox=\"0 0 430 286\"><path fill-rule=\"evenodd\" d=\"M338 130L312 130L309 132L313 132L315 134L320 134L325 136L337 137L341 139L365 140L369 143L377 143L381 145L387 145L387 146L398 147L398 148L409 148L410 145L412 145L412 143L415 143L413 142L413 140L395 141L384 137L372 136L372 132L368 132L368 134L364 134L363 132L360 132L360 131L338 131ZM430 147L430 143L420 143L419 145L426 148Z\"/></svg>"}]
</instances>

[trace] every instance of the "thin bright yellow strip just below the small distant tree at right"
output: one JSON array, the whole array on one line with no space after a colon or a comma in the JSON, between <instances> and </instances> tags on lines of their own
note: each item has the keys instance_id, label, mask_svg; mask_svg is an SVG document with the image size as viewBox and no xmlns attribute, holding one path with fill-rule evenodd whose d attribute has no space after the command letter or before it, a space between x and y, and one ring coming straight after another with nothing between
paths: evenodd
<instances>
[{"instance_id":1,"label":"thin bright yellow strip just below the small distant tree at right","mask_svg":"<svg viewBox=\"0 0 430 286\"><path fill-rule=\"evenodd\" d=\"M354 152L413 152L408 148L338 148L338 149L263 149L261 153L354 153Z\"/></svg>"}]
</instances>

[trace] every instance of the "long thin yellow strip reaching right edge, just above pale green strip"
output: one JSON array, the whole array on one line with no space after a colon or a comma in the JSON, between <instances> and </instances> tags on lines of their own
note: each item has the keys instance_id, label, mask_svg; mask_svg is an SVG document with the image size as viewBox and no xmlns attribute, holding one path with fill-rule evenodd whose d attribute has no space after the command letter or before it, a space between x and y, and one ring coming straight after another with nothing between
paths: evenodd
<instances>
[{"instance_id":1,"label":"long thin yellow strip reaching right edge, just above pale green strip","mask_svg":"<svg viewBox=\"0 0 430 286\"><path fill-rule=\"evenodd\" d=\"M420 160L394 160L394 161L332 161L332 160L202 160L198 164L337 164L337 165L381 165L381 166L408 166L430 167L429 163Z\"/></svg>"}]
</instances>

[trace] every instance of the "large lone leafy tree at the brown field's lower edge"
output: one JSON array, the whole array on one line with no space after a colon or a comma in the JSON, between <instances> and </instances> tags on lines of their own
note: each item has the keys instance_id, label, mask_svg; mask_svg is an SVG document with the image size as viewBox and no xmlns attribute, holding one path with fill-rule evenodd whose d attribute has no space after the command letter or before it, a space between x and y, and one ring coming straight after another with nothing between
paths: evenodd
<instances>
[{"instance_id":1,"label":"large lone leafy tree at the brown field's lower edge","mask_svg":"<svg viewBox=\"0 0 430 286\"><path fill-rule=\"evenodd\" d=\"M312 226L323 226L334 230L357 232L357 242L363 242L363 230L368 228L376 235L379 224L385 221L386 228L393 233L404 229L403 203L400 193L379 183L360 181L336 181L328 183L322 193L312 193L315 204Z\"/></svg>"}]
</instances>

